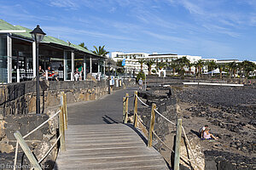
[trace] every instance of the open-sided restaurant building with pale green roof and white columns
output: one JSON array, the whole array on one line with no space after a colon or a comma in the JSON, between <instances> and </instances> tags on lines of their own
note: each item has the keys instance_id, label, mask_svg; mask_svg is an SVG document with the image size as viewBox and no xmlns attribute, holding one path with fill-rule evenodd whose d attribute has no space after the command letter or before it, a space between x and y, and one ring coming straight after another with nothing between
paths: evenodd
<instances>
[{"instance_id":1,"label":"open-sided restaurant building with pale green roof and white columns","mask_svg":"<svg viewBox=\"0 0 256 170\"><path fill-rule=\"evenodd\" d=\"M0 20L0 83L29 81L36 77L36 42L30 31ZM106 57L55 37L45 36L40 42L38 59L44 71L51 66L58 72L59 80L73 81L75 69L81 66L83 80L88 73L105 77Z\"/></svg>"}]
</instances>

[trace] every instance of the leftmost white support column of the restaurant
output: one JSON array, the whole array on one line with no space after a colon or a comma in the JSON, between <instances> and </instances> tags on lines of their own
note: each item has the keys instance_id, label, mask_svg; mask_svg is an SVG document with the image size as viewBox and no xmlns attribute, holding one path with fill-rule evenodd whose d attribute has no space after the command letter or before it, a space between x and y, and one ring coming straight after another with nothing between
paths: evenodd
<instances>
[{"instance_id":1,"label":"leftmost white support column of the restaurant","mask_svg":"<svg viewBox=\"0 0 256 170\"><path fill-rule=\"evenodd\" d=\"M7 36L7 80L8 83L12 82L12 38L10 35Z\"/></svg>"}]
</instances>

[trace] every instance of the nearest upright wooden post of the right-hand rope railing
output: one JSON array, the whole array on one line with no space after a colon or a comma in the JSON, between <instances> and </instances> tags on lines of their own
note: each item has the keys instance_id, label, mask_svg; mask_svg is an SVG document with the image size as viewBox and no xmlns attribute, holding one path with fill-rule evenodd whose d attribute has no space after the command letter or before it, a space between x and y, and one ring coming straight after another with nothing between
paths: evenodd
<instances>
[{"instance_id":1,"label":"nearest upright wooden post of the right-hand rope railing","mask_svg":"<svg viewBox=\"0 0 256 170\"><path fill-rule=\"evenodd\" d=\"M182 133L182 119L177 119L174 170L179 170L181 133Z\"/></svg>"}]
</instances>

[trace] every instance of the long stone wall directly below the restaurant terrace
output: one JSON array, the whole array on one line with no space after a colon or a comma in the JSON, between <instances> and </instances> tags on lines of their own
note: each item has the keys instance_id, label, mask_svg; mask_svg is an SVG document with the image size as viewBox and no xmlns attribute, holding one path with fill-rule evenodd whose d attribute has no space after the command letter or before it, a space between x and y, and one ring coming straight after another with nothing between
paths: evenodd
<instances>
[{"instance_id":1,"label":"long stone wall directly below the restaurant terrace","mask_svg":"<svg viewBox=\"0 0 256 170\"><path fill-rule=\"evenodd\" d=\"M131 86L135 80L123 81L122 87L113 86L116 90ZM59 105L61 92L67 94L67 104L98 99L108 94L108 81L41 81L40 104L41 111ZM0 86L0 115L24 115L36 110L36 82L20 82Z\"/></svg>"}]
</instances>

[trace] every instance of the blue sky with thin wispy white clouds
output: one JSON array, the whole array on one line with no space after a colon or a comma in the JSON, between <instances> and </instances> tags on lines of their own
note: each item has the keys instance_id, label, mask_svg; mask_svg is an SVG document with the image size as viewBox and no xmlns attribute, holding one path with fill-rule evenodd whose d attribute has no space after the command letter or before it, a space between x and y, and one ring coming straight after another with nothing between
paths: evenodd
<instances>
[{"instance_id":1,"label":"blue sky with thin wispy white clouds","mask_svg":"<svg viewBox=\"0 0 256 170\"><path fill-rule=\"evenodd\" d=\"M256 60L256 0L0 0L0 17L108 51Z\"/></svg>"}]
</instances>

